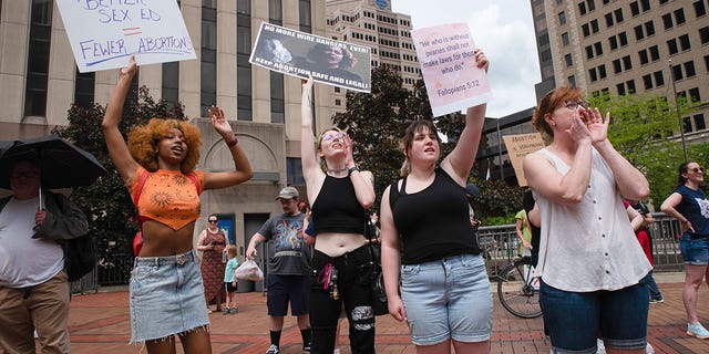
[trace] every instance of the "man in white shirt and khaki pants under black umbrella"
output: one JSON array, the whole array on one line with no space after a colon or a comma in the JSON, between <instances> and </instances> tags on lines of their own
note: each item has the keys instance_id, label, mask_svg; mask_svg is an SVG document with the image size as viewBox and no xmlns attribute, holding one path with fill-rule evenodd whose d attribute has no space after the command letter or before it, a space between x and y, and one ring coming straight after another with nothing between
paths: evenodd
<instances>
[{"instance_id":1,"label":"man in white shirt and khaki pants under black umbrella","mask_svg":"<svg viewBox=\"0 0 709 354\"><path fill-rule=\"evenodd\" d=\"M47 194L40 208L37 160L2 163L12 196L0 199L0 352L34 353L37 330L42 353L70 353L70 290L56 240L88 233L86 217L59 194Z\"/></svg>"}]
</instances>

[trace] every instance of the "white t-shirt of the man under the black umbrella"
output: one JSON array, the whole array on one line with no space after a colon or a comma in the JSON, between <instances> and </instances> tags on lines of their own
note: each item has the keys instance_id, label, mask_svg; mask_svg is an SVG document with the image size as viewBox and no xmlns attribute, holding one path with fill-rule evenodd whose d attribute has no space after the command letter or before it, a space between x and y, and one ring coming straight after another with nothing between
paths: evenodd
<instances>
[{"instance_id":1,"label":"white t-shirt of the man under the black umbrella","mask_svg":"<svg viewBox=\"0 0 709 354\"><path fill-rule=\"evenodd\" d=\"M0 211L0 285L41 284L64 268L64 252L53 240L33 239L39 198L10 201Z\"/></svg>"}]
</instances>

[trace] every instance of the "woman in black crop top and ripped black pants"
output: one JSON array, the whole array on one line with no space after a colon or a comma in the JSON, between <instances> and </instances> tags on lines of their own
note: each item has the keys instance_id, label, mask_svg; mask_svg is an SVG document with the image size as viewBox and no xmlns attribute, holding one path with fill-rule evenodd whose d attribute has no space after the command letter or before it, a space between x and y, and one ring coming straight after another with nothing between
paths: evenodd
<instances>
[{"instance_id":1,"label":"woman in black crop top and ripped black pants","mask_svg":"<svg viewBox=\"0 0 709 354\"><path fill-rule=\"evenodd\" d=\"M374 314L364 246L364 209L374 202L373 177L352 159L352 140L338 128L312 136L312 77L302 85L301 162L317 239L312 254L312 354L330 354L342 304L352 353L374 353Z\"/></svg>"}]
</instances>

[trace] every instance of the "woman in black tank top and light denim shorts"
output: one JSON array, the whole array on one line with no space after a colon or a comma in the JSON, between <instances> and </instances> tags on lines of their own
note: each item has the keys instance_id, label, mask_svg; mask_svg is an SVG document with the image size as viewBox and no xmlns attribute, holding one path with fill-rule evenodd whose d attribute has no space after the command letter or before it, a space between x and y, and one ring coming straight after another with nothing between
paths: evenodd
<instances>
[{"instance_id":1,"label":"woman in black tank top and light denim shorts","mask_svg":"<svg viewBox=\"0 0 709 354\"><path fill-rule=\"evenodd\" d=\"M482 51L475 50L475 61L472 70L487 71ZM411 123L401 139L403 179L382 196L381 262L389 313L409 323L417 353L450 353L451 344L456 353L490 352L490 281L465 197L485 108L467 108L455 148L440 164L433 123Z\"/></svg>"}]
</instances>

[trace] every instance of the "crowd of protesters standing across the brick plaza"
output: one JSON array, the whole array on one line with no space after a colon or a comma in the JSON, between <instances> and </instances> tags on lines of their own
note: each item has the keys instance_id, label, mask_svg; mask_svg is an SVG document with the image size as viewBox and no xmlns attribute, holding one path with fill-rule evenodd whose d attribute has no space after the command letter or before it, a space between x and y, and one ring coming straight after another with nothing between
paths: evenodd
<instances>
[{"instance_id":1,"label":"crowd of protesters standing across the brick plaza","mask_svg":"<svg viewBox=\"0 0 709 354\"><path fill-rule=\"evenodd\" d=\"M343 53L330 54L342 60ZM487 71L480 50L475 63ZM143 247L130 280L131 342L144 343L148 353L174 353L178 337L185 353L209 353L209 306L238 312L239 262L216 215L207 217L193 247L199 195L249 180L251 166L217 106L208 114L233 170L196 169L199 131L185 121L153 118L134 127L126 142L119 125L136 72L131 59L102 123L117 173L129 192L141 196L134 199ZM338 353L343 316L351 353L374 353L371 279L378 260L364 232L377 198L373 174L358 167L354 142L342 127L314 136L314 85L312 77L304 81L301 95L301 164L311 210L301 212L298 189L282 188L276 196L282 214L250 237L245 252L253 260L268 243L267 254L260 254L268 270L266 353L280 352L288 306L304 352ZM640 202L650 187L608 139L610 114L589 107L582 96L578 88L555 88L534 112L532 124L549 144L524 158L531 190L515 216L518 254L536 266L552 352L595 353L602 343L608 352L644 353L649 303L664 301L653 278L653 219ZM401 179L382 194L376 242L388 310L408 324L417 353L491 351L493 300L471 208L477 189L469 184L485 110L485 104L467 108L455 147L443 158L435 125L411 122L400 139ZM43 350L68 353L69 288L55 240L86 233L88 220L61 195L49 194L47 207L37 208L37 162L18 160L10 170L13 196L0 200L0 239L16 241L0 246L8 256L0 263L0 348L33 351L37 330ZM687 335L709 339L697 313L698 290L709 277L709 200L702 183L703 168L682 163L678 186L660 209L681 225ZM40 254L40 262L17 257L27 250Z\"/></svg>"}]
</instances>

